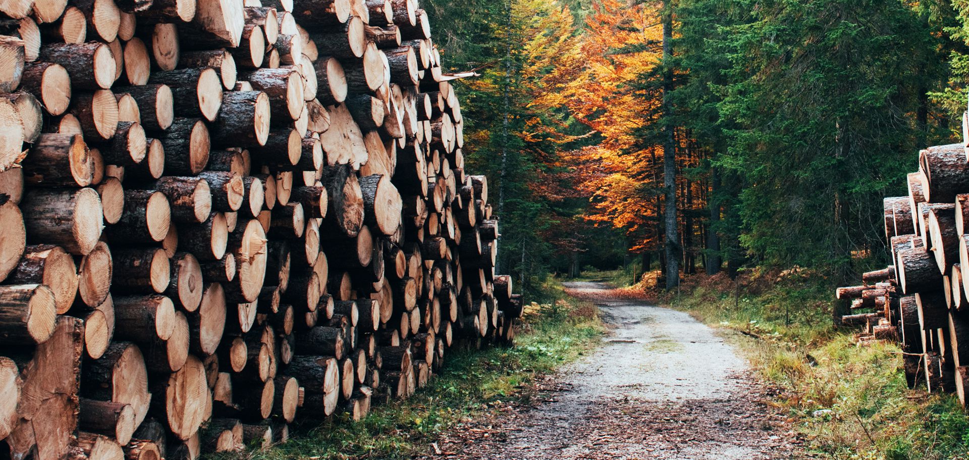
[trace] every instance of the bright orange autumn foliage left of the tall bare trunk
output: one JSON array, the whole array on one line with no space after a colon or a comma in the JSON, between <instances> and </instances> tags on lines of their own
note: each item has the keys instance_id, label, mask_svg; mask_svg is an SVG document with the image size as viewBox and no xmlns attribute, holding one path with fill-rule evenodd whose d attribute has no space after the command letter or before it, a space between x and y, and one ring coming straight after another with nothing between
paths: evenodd
<instances>
[{"instance_id":1,"label":"bright orange autumn foliage left of the tall bare trunk","mask_svg":"<svg viewBox=\"0 0 969 460\"><path fill-rule=\"evenodd\" d=\"M600 0L586 19L580 45L580 77L568 84L565 103L601 137L573 152L583 165L581 185L591 197L587 218L625 229L633 249L657 241L656 219L662 151L641 147L636 131L655 122L660 100L641 85L641 76L662 56L658 12L649 5Z\"/></svg>"}]
</instances>

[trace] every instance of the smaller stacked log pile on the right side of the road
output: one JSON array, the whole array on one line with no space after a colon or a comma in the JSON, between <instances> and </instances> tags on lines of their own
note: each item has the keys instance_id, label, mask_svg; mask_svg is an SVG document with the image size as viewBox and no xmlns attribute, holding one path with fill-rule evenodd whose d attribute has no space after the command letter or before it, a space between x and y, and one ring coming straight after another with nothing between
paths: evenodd
<instances>
[{"instance_id":1,"label":"smaller stacked log pile on the right side of the road","mask_svg":"<svg viewBox=\"0 0 969 460\"><path fill-rule=\"evenodd\" d=\"M969 112L965 140L925 148L907 177L908 196L884 200L891 265L839 287L850 301L845 324L862 327L861 343L898 341L910 387L969 390Z\"/></svg>"}]
</instances>

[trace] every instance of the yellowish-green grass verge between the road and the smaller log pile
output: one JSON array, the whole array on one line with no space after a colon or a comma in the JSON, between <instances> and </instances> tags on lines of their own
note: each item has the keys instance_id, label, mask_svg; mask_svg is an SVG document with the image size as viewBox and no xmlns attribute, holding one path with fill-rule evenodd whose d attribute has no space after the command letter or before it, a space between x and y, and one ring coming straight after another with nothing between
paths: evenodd
<instances>
[{"instance_id":1,"label":"yellowish-green grass verge between the road and the smaller log pile","mask_svg":"<svg viewBox=\"0 0 969 460\"><path fill-rule=\"evenodd\" d=\"M969 419L953 395L908 390L896 345L857 346L831 326L833 286L815 274L687 279L662 301L734 330L756 369L786 391L811 451L844 460L969 459Z\"/></svg>"}]
</instances>

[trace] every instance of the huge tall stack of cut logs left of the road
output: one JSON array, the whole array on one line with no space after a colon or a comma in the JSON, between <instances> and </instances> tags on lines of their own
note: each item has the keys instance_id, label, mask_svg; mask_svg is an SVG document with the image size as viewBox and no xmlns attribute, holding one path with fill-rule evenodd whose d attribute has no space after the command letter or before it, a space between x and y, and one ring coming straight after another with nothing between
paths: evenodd
<instances>
[{"instance_id":1,"label":"huge tall stack of cut logs left of the road","mask_svg":"<svg viewBox=\"0 0 969 460\"><path fill-rule=\"evenodd\" d=\"M0 440L193 459L510 344L414 0L0 2Z\"/></svg>"}]
</instances>

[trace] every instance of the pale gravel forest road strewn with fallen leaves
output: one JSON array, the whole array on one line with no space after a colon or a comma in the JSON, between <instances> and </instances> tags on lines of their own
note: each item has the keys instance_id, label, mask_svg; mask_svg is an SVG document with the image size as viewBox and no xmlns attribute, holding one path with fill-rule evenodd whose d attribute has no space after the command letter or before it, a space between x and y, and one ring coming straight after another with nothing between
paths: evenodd
<instances>
[{"instance_id":1,"label":"pale gravel forest road strewn with fallen leaves","mask_svg":"<svg viewBox=\"0 0 969 460\"><path fill-rule=\"evenodd\" d=\"M566 283L596 299L608 288ZM770 394L712 329L684 312L597 300L604 345L547 378L528 408L449 434L433 459L807 458Z\"/></svg>"}]
</instances>

